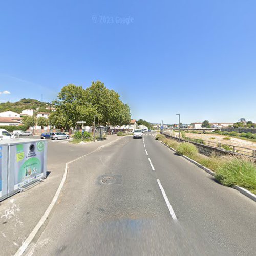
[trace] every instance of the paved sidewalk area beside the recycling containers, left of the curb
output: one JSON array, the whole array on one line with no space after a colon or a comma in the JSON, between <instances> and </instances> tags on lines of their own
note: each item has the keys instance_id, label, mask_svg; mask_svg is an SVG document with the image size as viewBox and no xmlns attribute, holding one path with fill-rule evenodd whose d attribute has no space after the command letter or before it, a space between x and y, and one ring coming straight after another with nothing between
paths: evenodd
<instances>
[{"instance_id":1,"label":"paved sidewalk area beside the recycling containers, left of the curb","mask_svg":"<svg viewBox=\"0 0 256 256\"><path fill-rule=\"evenodd\" d=\"M86 144L48 143L48 177L0 203L0 255L15 254L38 223L58 189L66 162L118 139L117 135L109 135L104 141Z\"/></svg>"}]
</instances>

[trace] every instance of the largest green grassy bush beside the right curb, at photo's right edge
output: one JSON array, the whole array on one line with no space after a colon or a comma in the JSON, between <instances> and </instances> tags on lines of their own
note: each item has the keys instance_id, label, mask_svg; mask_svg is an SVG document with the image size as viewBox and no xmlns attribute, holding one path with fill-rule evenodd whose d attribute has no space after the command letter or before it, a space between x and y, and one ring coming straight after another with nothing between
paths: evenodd
<instances>
[{"instance_id":1,"label":"largest green grassy bush beside the right curb, at photo's right edge","mask_svg":"<svg viewBox=\"0 0 256 256\"><path fill-rule=\"evenodd\" d=\"M256 164L235 158L217 169L215 178L225 186L241 186L256 194Z\"/></svg>"}]
</instances>

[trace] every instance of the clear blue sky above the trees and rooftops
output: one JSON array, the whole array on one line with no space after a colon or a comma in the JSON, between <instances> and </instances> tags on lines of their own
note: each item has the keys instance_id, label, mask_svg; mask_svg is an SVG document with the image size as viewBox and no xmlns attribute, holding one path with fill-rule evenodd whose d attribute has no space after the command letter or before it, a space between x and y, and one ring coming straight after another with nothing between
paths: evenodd
<instances>
[{"instance_id":1,"label":"clear blue sky above the trees and rooftops","mask_svg":"<svg viewBox=\"0 0 256 256\"><path fill-rule=\"evenodd\" d=\"M0 12L1 102L100 80L135 119L256 122L255 0L16 0Z\"/></svg>"}]
</instances>

